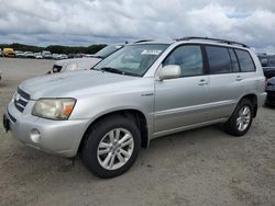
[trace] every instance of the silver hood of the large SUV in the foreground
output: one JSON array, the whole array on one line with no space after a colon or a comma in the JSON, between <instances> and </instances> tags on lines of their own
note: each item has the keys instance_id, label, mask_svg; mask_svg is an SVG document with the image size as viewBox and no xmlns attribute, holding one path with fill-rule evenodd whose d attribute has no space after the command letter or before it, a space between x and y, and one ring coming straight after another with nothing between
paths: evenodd
<instances>
[{"instance_id":1,"label":"silver hood of the large SUV in the foreground","mask_svg":"<svg viewBox=\"0 0 275 206\"><path fill-rule=\"evenodd\" d=\"M96 70L64 72L33 78L23 81L19 88L40 98L78 98L91 93L121 90L123 83L140 80L136 77L122 76Z\"/></svg>"}]
</instances>

